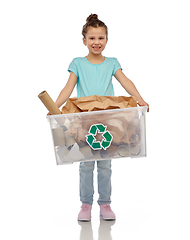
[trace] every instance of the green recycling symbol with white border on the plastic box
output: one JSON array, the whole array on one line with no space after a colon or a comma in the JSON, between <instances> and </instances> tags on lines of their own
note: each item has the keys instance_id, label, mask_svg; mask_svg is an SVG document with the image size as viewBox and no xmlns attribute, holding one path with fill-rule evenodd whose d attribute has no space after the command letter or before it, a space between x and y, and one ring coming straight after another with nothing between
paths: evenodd
<instances>
[{"instance_id":1,"label":"green recycling symbol with white border on the plastic box","mask_svg":"<svg viewBox=\"0 0 190 240\"><path fill-rule=\"evenodd\" d=\"M107 126L104 126L102 123L94 124L90 126L89 135L86 135L86 142L90 145L93 150L104 149L106 150L113 140L113 136L109 131L106 131ZM102 133L102 141L96 141L96 134Z\"/></svg>"}]
</instances>

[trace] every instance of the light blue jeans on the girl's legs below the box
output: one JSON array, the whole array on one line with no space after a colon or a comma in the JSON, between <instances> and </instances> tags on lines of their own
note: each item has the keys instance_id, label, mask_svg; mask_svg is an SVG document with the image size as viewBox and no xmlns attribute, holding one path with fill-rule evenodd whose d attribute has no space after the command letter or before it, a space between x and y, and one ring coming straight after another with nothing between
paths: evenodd
<instances>
[{"instance_id":1,"label":"light blue jeans on the girl's legs below the box","mask_svg":"<svg viewBox=\"0 0 190 240\"><path fill-rule=\"evenodd\" d=\"M92 205L94 195L93 171L95 162L80 163L80 200ZM97 161L98 204L110 204L111 200L111 160Z\"/></svg>"}]
</instances>

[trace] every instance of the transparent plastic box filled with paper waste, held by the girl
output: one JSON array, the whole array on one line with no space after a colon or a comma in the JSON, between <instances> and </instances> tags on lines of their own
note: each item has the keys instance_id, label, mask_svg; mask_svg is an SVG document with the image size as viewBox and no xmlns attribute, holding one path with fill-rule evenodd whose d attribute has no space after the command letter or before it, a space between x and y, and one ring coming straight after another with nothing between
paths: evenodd
<instances>
[{"instance_id":1,"label":"transparent plastic box filled with paper waste, held by the girl","mask_svg":"<svg viewBox=\"0 0 190 240\"><path fill-rule=\"evenodd\" d=\"M50 115L56 162L146 156L147 107Z\"/></svg>"}]
</instances>

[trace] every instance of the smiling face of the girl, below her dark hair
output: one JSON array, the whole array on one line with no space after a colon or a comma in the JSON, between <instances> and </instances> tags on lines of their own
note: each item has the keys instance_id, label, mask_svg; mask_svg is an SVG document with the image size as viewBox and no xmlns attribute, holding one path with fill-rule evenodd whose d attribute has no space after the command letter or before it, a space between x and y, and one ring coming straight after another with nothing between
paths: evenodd
<instances>
[{"instance_id":1,"label":"smiling face of the girl, below her dark hair","mask_svg":"<svg viewBox=\"0 0 190 240\"><path fill-rule=\"evenodd\" d=\"M104 27L89 27L86 38L83 38L83 43L89 49L89 52L94 55L99 55L105 49L107 44L106 30Z\"/></svg>"}]
</instances>

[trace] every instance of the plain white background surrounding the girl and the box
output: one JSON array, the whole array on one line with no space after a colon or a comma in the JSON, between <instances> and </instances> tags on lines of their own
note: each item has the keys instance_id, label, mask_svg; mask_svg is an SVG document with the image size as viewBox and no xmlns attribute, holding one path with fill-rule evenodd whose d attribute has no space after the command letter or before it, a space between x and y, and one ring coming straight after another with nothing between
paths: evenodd
<instances>
[{"instance_id":1,"label":"plain white background surrounding the girl and the box","mask_svg":"<svg viewBox=\"0 0 190 240\"><path fill-rule=\"evenodd\" d=\"M91 13L109 29L104 55L119 60L150 104L148 156L113 160L117 221L111 233L105 227L101 235L95 195L94 239L99 234L99 239L115 240L119 233L125 239L190 239L190 15L185 0L1 1L0 238L92 239L83 236L76 221L78 164L56 166L47 110L37 97L47 90L56 100L71 60L87 55L81 30ZM126 95L113 81L115 94Z\"/></svg>"}]
</instances>

